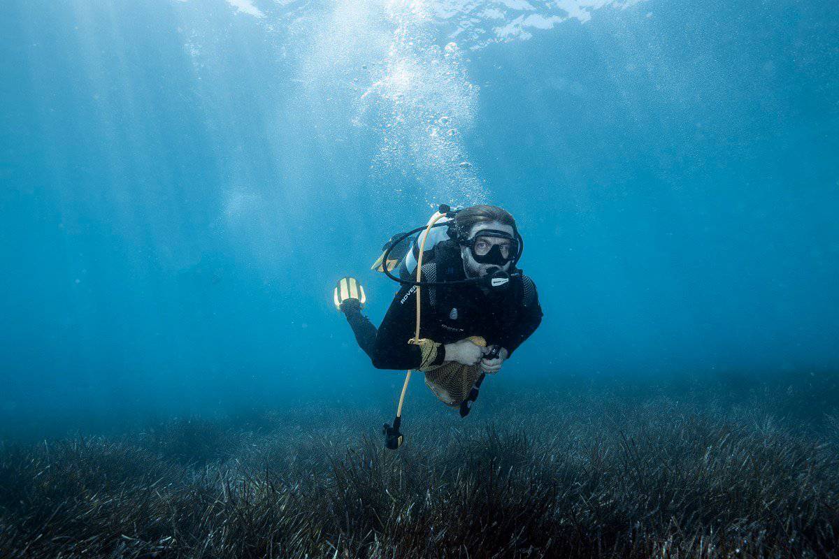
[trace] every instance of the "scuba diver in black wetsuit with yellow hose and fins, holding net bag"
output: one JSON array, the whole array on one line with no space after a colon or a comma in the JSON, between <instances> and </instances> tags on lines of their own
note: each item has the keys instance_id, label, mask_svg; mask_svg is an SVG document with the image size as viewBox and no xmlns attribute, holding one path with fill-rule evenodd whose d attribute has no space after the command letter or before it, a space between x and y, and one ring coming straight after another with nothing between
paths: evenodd
<instances>
[{"instance_id":1,"label":"scuba diver in black wetsuit with yellow hose and fins, holding net bag","mask_svg":"<svg viewBox=\"0 0 839 559\"><path fill-rule=\"evenodd\" d=\"M402 284L378 329L362 313L366 294L359 282L338 282L336 308L373 366L408 370L393 427L384 426L388 448L402 443L411 370L425 372L435 396L466 417L485 375L501 370L539 327L536 286L517 266L523 249L507 210L441 205L428 225L393 236L373 264Z\"/></svg>"}]
</instances>

